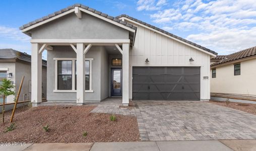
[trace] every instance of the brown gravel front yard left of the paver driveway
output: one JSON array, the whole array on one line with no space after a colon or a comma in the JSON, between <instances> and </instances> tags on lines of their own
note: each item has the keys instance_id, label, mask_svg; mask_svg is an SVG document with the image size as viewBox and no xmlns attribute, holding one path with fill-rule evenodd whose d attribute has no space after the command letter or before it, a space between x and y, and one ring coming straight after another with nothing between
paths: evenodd
<instances>
[{"instance_id":1,"label":"brown gravel front yard left of the paver driveway","mask_svg":"<svg viewBox=\"0 0 256 151\"><path fill-rule=\"evenodd\" d=\"M16 129L4 132L9 126L11 111L6 122L0 124L0 142L102 142L140 141L136 117L90 113L95 106L41 106L18 109L14 123ZM49 132L43 126L49 125ZM87 131L88 135L83 136Z\"/></svg>"}]
</instances>

